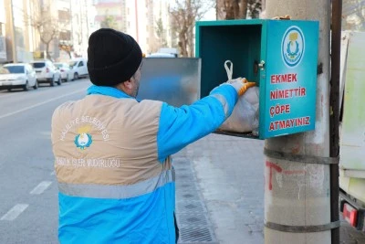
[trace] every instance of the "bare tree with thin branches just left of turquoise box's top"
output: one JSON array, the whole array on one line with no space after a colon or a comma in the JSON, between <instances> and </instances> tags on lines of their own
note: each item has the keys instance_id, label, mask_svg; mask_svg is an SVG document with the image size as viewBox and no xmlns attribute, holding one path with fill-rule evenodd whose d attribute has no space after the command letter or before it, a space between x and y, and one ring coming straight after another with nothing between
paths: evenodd
<instances>
[{"instance_id":1,"label":"bare tree with thin branches just left of turquoise box's top","mask_svg":"<svg viewBox=\"0 0 365 244\"><path fill-rule=\"evenodd\" d=\"M193 27L195 21L214 7L212 0L175 0L170 6L172 31L178 36L181 56L193 57Z\"/></svg>"}]
</instances>

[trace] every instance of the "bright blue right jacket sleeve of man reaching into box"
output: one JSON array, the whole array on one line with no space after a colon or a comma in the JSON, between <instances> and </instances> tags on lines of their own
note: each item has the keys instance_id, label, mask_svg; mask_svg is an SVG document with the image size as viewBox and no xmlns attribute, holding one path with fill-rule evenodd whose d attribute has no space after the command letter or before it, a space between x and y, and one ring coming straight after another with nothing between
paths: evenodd
<instances>
[{"instance_id":1,"label":"bright blue right jacket sleeve of man reaching into box","mask_svg":"<svg viewBox=\"0 0 365 244\"><path fill-rule=\"evenodd\" d=\"M176 108L164 102L157 134L159 161L214 132L231 115L237 100L235 88L224 84L189 106Z\"/></svg>"}]
</instances>

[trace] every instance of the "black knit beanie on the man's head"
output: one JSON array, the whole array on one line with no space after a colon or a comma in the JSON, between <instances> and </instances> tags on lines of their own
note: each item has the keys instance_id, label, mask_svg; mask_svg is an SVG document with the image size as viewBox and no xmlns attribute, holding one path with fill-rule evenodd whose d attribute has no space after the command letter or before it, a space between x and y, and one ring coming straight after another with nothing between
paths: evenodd
<instances>
[{"instance_id":1,"label":"black knit beanie on the man's head","mask_svg":"<svg viewBox=\"0 0 365 244\"><path fill-rule=\"evenodd\" d=\"M130 80L141 65L138 43L120 31L101 28L89 37L89 78L97 86L115 86Z\"/></svg>"}]
</instances>

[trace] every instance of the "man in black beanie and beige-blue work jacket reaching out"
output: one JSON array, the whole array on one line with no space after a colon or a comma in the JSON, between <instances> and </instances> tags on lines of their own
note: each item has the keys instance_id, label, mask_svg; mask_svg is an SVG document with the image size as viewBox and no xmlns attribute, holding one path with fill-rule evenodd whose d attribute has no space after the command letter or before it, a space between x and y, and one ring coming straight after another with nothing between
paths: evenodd
<instances>
[{"instance_id":1,"label":"man in black beanie and beige-blue work jacket reaching out","mask_svg":"<svg viewBox=\"0 0 365 244\"><path fill-rule=\"evenodd\" d=\"M79 101L52 117L60 243L174 243L172 159L214 132L254 83L232 80L190 106L137 101L141 48L119 31L89 37L89 78Z\"/></svg>"}]
</instances>

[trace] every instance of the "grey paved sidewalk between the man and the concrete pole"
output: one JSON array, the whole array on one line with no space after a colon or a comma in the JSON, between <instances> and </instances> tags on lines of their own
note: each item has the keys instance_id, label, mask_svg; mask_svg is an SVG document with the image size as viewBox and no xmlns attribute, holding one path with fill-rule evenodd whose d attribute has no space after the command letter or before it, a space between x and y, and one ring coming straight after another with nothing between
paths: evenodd
<instances>
[{"instance_id":1,"label":"grey paved sidewalk between the man and the concrete pole","mask_svg":"<svg viewBox=\"0 0 365 244\"><path fill-rule=\"evenodd\" d=\"M264 243L264 141L211 134L173 155L179 243ZM365 243L346 222L340 243Z\"/></svg>"}]
</instances>

